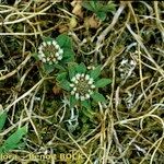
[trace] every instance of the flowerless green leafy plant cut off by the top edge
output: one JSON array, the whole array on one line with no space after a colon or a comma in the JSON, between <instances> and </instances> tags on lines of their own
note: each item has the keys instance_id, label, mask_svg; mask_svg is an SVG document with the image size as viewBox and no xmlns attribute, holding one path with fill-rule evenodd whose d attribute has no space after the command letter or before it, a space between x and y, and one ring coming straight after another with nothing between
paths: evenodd
<instances>
[{"instance_id":1,"label":"flowerless green leafy plant cut off by the top edge","mask_svg":"<svg viewBox=\"0 0 164 164\"><path fill-rule=\"evenodd\" d=\"M93 11L97 17L102 21L105 21L106 14L108 12L115 12L116 5L110 1L107 5L104 5L102 2L97 0L84 1L83 7L90 11Z\"/></svg>"}]
</instances>

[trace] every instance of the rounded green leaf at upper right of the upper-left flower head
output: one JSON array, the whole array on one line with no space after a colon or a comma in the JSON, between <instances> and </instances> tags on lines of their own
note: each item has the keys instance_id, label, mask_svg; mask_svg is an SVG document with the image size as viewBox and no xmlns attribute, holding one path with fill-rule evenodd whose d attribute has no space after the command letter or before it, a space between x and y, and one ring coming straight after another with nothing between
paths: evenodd
<instances>
[{"instance_id":1,"label":"rounded green leaf at upper right of the upper-left flower head","mask_svg":"<svg viewBox=\"0 0 164 164\"><path fill-rule=\"evenodd\" d=\"M72 43L69 36L61 34L56 38L57 43L59 44L60 47L63 48L72 48Z\"/></svg>"}]
</instances>

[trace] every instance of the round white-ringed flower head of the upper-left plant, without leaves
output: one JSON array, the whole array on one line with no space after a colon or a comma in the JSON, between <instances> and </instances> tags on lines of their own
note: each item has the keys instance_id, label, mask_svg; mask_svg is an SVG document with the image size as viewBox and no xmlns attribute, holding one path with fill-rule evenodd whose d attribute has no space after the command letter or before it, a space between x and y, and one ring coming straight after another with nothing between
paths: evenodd
<instances>
[{"instance_id":1,"label":"round white-ringed flower head of the upper-left plant, without leaves","mask_svg":"<svg viewBox=\"0 0 164 164\"><path fill-rule=\"evenodd\" d=\"M63 49L56 40L43 42L38 47L38 58L44 63L58 63L62 59Z\"/></svg>"}]
</instances>

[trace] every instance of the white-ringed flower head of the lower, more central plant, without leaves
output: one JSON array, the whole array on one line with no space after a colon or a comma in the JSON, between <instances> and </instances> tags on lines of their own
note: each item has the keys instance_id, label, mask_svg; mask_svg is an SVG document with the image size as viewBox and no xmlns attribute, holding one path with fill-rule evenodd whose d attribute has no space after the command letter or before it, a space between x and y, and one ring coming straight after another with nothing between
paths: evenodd
<instances>
[{"instance_id":1,"label":"white-ringed flower head of the lower, more central plant, without leaves","mask_svg":"<svg viewBox=\"0 0 164 164\"><path fill-rule=\"evenodd\" d=\"M95 89L94 80L86 73L77 73L70 83L71 95L75 99L85 101L91 97Z\"/></svg>"}]
</instances>

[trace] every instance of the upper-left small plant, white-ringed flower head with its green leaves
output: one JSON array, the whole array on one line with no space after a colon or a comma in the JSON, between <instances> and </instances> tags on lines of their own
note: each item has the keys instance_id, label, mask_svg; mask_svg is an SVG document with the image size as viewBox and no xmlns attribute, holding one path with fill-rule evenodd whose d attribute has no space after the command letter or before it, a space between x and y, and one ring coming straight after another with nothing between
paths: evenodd
<instances>
[{"instance_id":1,"label":"upper-left small plant, white-ringed flower head with its green leaves","mask_svg":"<svg viewBox=\"0 0 164 164\"><path fill-rule=\"evenodd\" d=\"M70 37L65 34L59 35L56 39L44 37L35 58L42 61L47 73L55 69L65 69L66 63L74 60Z\"/></svg>"}]
</instances>

